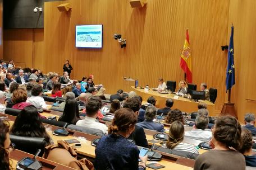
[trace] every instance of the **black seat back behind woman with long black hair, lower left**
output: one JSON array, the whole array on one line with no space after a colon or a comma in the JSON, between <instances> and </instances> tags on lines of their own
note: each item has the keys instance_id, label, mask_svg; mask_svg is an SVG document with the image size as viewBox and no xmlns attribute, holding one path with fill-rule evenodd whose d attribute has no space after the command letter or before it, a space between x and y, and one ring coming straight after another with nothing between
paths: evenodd
<instances>
[{"instance_id":1,"label":"black seat back behind woman with long black hair, lower left","mask_svg":"<svg viewBox=\"0 0 256 170\"><path fill-rule=\"evenodd\" d=\"M33 155L38 149L41 149L39 157L42 157L44 154L44 148L47 145L47 141L44 138L10 135L10 139L11 142L15 144L16 149Z\"/></svg>"}]
</instances>

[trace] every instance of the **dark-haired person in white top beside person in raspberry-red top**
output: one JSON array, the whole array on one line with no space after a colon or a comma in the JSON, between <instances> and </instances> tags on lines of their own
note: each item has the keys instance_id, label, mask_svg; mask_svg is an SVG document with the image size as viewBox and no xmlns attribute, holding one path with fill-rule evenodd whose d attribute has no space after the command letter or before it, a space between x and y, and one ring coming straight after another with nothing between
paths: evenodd
<instances>
[{"instance_id":1,"label":"dark-haired person in white top beside person in raspberry-red top","mask_svg":"<svg viewBox=\"0 0 256 170\"><path fill-rule=\"evenodd\" d=\"M28 98L27 102L31 103L38 109L47 108L44 98L41 97L42 92L43 92L42 86L40 86L39 84L34 84L31 91L31 97Z\"/></svg>"}]
</instances>

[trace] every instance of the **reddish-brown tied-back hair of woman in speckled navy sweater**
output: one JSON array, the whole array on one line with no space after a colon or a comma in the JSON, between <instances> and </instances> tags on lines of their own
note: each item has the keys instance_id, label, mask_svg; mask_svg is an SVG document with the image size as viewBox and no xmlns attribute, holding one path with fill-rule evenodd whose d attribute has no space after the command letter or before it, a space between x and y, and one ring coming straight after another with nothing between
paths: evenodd
<instances>
[{"instance_id":1,"label":"reddish-brown tied-back hair of woman in speckled navy sweater","mask_svg":"<svg viewBox=\"0 0 256 170\"><path fill-rule=\"evenodd\" d=\"M108 134L117 134L118 131L126 132L135 126L137 116L130 108L120 108L115 114L112 125L108 126Z\"/></svg>"}]
</instances>

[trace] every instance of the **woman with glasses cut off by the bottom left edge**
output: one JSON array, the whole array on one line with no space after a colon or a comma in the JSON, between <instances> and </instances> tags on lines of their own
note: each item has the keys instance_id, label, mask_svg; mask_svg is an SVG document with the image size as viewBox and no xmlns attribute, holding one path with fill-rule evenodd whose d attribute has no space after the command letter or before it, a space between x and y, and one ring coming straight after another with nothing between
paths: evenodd
<instances>
[{"instance_id":1,"label":"woman with glasses cut off by the bottom left edge","mask_svg":"<svg viewBox=\"0 0 256 170\"><path fill-rule=\"evenodd\" d=\"M0 169L11 170L9 154L14 150L15 145L11 143L9 136L9 124L0 119Z\"/></svg>"}]
</instances>

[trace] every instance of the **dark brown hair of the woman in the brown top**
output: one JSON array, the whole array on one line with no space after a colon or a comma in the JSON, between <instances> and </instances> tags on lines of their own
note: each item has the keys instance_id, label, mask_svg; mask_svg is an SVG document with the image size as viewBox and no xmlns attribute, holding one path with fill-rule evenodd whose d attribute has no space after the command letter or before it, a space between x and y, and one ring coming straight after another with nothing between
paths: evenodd
<instances>
[{"instance_id":1,"label":"dark brown hair of the woman in the brown top","mask_svg":"<svg viewBox=\"0 0 256 170\"><path fill-rule=\"evenodd\" d=\"M221 116L216 120L213 132L214 139L226 145L239 150L241 141L241 125L233 116Z\"/></svg>"}]
</instances>

